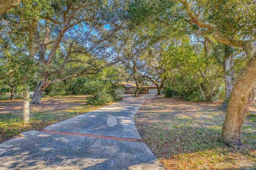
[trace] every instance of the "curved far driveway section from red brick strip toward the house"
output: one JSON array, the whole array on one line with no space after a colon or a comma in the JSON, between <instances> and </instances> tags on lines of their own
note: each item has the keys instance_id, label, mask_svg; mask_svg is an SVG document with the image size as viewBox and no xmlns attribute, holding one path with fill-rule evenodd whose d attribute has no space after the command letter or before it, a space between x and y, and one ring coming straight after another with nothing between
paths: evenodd
<instances>
[{"instance_id":1,"label":"curved far driveway section from red brick strip toward the house","mask_svg":"<svg viewBox=\"0 0 256 170\"><path fill-rule=\"evenodd\" d=\"M134 115L142 103L147 98L152 97L154 96L149 95L138 98L126 96L126 98L120 102L55 123L45 129L141 139L134 124Z\"/></svg>"}]
</instances>

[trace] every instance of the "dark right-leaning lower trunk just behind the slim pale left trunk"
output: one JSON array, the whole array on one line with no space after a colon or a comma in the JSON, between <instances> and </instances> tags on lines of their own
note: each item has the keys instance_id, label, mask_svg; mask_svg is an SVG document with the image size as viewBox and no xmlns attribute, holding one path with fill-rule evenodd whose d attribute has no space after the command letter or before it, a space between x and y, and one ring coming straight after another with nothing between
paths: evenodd
<instances>
[{"instance_id":1,"label":"dark right-leaning lower trunk just behind the slim pale left trunk","mask_svg":"<svg viewBox=\"0 0 256 170\"><path fill-rule=\"evenodd\" d=\"M34 91L31 104L41 104L44 89L48 86L47 80L41 80L37 83L36 90Z\"/></svg>"}]
</instances>

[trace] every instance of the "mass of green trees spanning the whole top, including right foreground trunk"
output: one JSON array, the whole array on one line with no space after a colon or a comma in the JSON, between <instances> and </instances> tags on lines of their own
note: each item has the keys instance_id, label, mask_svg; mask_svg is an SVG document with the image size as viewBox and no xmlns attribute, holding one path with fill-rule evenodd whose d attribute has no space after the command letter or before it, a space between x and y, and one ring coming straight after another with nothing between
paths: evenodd
<instances>
[{"instance_id":1,"label":"mass of green trees spanning the whole top, including right foreground trunk","mask_svg":"<svg viewBox=\"0 0 256 170\"><path fill-rule=\"evenodd\" d=\"M123 81L158 95L224 100L225 143L241 144L256 88L255 0L1 2L0 94L120 100ZM70 85L68 85L70 84ZM78 88L79 87L79 88ZM167 92L166 92L167 94Z\"/></svg>"}]
</instances>

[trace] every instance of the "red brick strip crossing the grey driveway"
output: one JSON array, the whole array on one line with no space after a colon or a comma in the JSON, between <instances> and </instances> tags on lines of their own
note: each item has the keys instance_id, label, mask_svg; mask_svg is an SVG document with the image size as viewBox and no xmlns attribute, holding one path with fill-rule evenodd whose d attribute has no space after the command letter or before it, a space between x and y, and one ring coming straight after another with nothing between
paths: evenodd
<instances>
[{"instance_id":1,"label":"red brick strip crossing the grey driveway","mask_svg":"<svg viewBox=\"0 0 256 170\"><path fill-rule=\"evenodd\" d=\"M85 137L95 137L100 139L112 139L116 141L128 141L128 142L137 142L137 139L130 138L122 138L122 137L110 137L110 136L102 136L102 135L90 135L90 134L82 134L82 133L71 133L71 132L61 132L61 131L50 131L50 130L42 130L44 133L51 133L57 135L76 135L76 136L85 136Z\"/></svg>"}]
</instances>

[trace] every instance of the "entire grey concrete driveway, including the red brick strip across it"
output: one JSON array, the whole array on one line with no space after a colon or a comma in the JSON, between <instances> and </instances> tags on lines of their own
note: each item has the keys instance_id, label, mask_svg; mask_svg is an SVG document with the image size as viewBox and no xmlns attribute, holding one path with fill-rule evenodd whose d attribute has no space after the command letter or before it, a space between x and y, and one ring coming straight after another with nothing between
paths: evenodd
<instances>
[{"instance_id":1,"label":"entire grey concrete driveway, including the red brick strip across it","mask_svg":"<svg viewBox=\"0 0 256 170\"><path fill-rule=\"evenodd\" d=\"M101 109L0 145L1 170L162 170L134 125L147 98L126 97Z\"/></svg>"}]
</instances>

